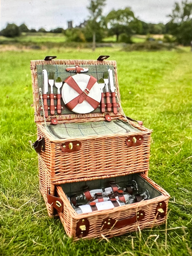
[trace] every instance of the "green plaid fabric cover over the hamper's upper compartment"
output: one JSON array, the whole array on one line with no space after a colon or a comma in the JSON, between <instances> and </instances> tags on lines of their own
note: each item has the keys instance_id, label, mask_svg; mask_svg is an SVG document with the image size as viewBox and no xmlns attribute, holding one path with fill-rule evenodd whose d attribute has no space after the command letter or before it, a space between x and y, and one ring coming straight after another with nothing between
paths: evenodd
<instances>
[{"instance_id":1,"label":"green plaid fabric cover over the hamper's upper compartment","mask_svg":"<svg viewBox=\"0 0 192 256\"><path fill-rule=\"evenodd\" d=\"M47 131L56 138L84 137L107 134L137 132L138 129L121 120L111 122L96 121L84 123L69 123L47 126Z\"/></svg>"}]
</instances>

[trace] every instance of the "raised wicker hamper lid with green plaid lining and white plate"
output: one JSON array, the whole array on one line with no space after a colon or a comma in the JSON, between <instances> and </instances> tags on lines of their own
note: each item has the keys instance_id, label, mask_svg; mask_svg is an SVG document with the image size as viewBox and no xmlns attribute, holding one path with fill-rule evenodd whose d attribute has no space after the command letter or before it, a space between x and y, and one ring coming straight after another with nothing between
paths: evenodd
<instances>
[{"instance_id":1,"label":"raised wicker hamper lid with green plaid lining and white plate","mask_svg":"<svg viewBox=\"0 0 192 256\"><path fill-rule=\"evenodd\" d=\"M86 74L80 73L79 75L76 76L75 73L69 72L66 69L69 67L74 67L75 65L79 65L80 68L87 68L88 71ZM73 96L71 97L72 90L67 86L67 83L63 83L62 88L60 89L60 92L62 92L62 98L61 98L61 105L62 105L62 110L61 114L58 114L57 112L57 88L55 85L53 85L53 94L54 94L54 107L55 111L54 114L51 115L50 113L50 86L48 84L48 92L47 92L47 107L48 109L48 116L46 117L46 122L50 122L52 118L57 118L58 121L63 121L63 120L72 120L72 119L86 119L86 118L97 118L97 120L103 120L104 115L108 114L112 117L120 117L123 115L122 109L119 107L119 101L120 101L120 93L119 93L119 86L118 86L118 79L117 79L117 67L116 67L116 62L115 61L96 61L96 60L51 60L51 61L45 61L45 60L35 60L31 61L30 63L30 69L32 72L32 88L33 88L33 105L35 108L35 122L44 122L44 117L43 117L43 111L42 111L42 101L40 99L40 93L39 93L39 88L43 92L43 75L42 71L43 69L47 70L48 78L49 78L49 73L50 72L55 72L55 78L61 77L62 81L64 82L67 77L78 77L82 78L82 81L78 80L77 83L79 87L81 87L81 90L84 89L86 86L88 78L90 76L94 77L96 82L93 88L90 91L89 96L92 97L94 100L98 102L98 107L92 107L90 106L89 103L87 103L86 100L83 101L83 103L79 104L76 108L69 108L66 103L70 99L72 99L75 96L75 93L73 91ZM113 74L113 82L114 86L116 88L116 96L118 96L118 99L116 97L116 102L117 102L117 114L113 113L113 109L111 108L111 111L109 112L107 108L105 108L105 113L101 111L101 91L100 88L97 84L97 80L100 77L103 77L103 72L107 71L108 69L112 70ZM54 79L55 79L54 78ZM79 79L79 78L78 78ZM85 80L84 80L85 79ZM87 79L87 80L86 80ZM80 84L82 82L82 84ZM67 93L66 93L67 91ZM69 94L68 94L69 92ZM103 91L105 92L105 91ZM109 87L109 93L110 93L110 87ZM104 104L106 104L106 99L104 98ZM112 103L112 98L110 98L110 101ZM45 104L44 104L45 105ZM95 105L94 105L95 106Z\"/></svg>"}]
</instances>

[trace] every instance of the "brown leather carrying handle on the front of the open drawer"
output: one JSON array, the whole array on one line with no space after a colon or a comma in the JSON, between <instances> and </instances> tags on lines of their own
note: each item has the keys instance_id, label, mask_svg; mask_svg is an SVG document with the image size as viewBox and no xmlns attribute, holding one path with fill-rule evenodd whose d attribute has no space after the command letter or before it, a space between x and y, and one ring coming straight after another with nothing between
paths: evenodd
<instances>
[{"instance_id":1,"label":"brown leather carrying handle on the front of the open drawer","mask_svg":"<svg viewBox=\"0 0 192 256\"><path fill-rule=\"evenodd\" d=\"M112 218L105 218L101 226L103 226L103 229L123 228L129 225L132 225L137 221L143 220L144 217L145 217L145 212L140 210L140 211L137 211L137 213L135 213L134 216L127 219L115 220Z\"/></svg>"}]
</instances>

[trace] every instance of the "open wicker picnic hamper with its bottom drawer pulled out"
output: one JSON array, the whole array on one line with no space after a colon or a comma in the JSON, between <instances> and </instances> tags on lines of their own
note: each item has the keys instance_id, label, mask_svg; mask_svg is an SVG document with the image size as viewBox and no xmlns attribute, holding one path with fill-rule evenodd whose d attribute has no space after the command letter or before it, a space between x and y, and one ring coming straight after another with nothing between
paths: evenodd
<instances>
[{"instance_id":1,"label":"open wicker picnic hamper with its bottom drawer pulled out","mask_svg":"<svg viewBox=\"0 0 192 256\"><path fill-rule=\"evenodd\" d=\"M116 62L103 59L54 60L48 57L31 61L30 65L40 191L49 216L59 215L67 235L75 240L101 234L121 235L138 226L141 229L161 224L165 222L170 197L148 178L151 130L125 117L120 104ZM44 70L49 74L54 72L64 81L62 96L56 87L44 93ZM113 93L111 90L110 94L103 91L97 96L97 92L100 95L98 78L103 77L106 70L112 70L116 90ZM74 81L78 88L73 87ZM92 87L89 87L91 82ZM70 87L75 89L75 96L69 93L73 92ZM95 90L94 94L91 90ZM72 100L67 102L68 96ZM78 99L76 105L75 99ZM87 106L92 110L90 113L86 112ZM151 199L77 214L66 196L87 184L94 187L110 180L123 184L131 178L150 191Z\"/></svg>"}]
</instances>

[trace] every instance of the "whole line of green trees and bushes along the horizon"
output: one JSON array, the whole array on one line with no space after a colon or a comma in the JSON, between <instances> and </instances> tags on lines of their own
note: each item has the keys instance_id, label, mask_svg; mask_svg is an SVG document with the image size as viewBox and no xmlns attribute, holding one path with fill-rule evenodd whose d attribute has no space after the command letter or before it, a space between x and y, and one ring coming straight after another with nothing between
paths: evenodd
<instances>
[{"instance_id":1,"label":"whole line of green trees and bushes along the horizon","mask_svg":"<svg viewBox=\"0 0 192 256\"><path fill-rule=\"evenodd\" d=\"M56 28L46 31L40 28L28 29L26 24L17 26L16 24L7 24L5 29L0 31L0 35L6 37L19 36L22 32L51 32L63 33L67 40L75 42L102 42L109 36L116 36L116 42L131 43L131 36L134 34L166 34L167 40L176 40L176 42L189 45L192 40L191 35L191 14L192 2L182 1L180 4L175 3L172 13L168 16L170 21L166 24L146 23L135 17L130 7L120 10L112 10L108 15L103 16L102 10L106 0L91 0L87 7L90 16L84 26L71 29ZM174 39L168 34L173 35Z\"/></svg>"}]
</instances>

